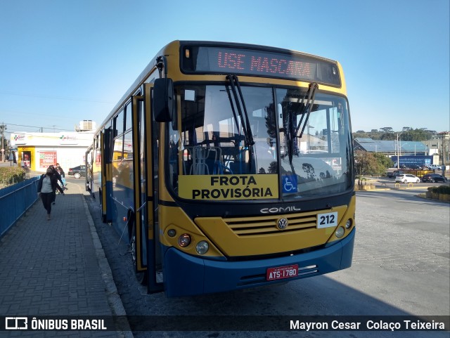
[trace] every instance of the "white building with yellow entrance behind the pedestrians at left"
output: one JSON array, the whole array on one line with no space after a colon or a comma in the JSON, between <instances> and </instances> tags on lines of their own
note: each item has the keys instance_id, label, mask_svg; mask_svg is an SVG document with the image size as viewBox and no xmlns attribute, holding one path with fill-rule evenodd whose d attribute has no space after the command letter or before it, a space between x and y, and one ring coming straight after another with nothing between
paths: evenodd
<instances>
[{"instance_id":1,"label":"white building with yellow entrance behind the pedestrians at left","mask_svg":"<svg viewBox=\"0 0 450 338\"><path fill-rule=\"evenodd\" d=\"M33 171L45 171L51 164L59 163L65 171L84 164L86 149L94 138L95 122L91 130L80 122L77 131L58 133L11 133L11 148L19 167Z\"/></svg>"}]
</instances>

